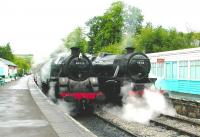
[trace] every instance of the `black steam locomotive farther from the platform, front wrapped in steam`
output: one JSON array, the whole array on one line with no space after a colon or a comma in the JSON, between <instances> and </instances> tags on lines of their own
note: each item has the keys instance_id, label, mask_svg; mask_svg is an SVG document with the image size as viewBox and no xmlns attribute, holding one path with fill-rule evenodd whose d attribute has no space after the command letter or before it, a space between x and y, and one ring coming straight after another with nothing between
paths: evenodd
<instances>
[{"instance_id":1,"label":"black steam locomotive farther from the platform, front wrapped in steam","mask_svg":"<svg viewBox=\"0 0 200 137\"><path fill-rule=\"evenodd\" d=\"M121 87L131 83L129 94L142 95L151 64L144 53L133 52L127 48L127 54L102 54L93 61L94 74L98 77L99 88L108 102L121 103Z\"/></svg>"}]
</instances>

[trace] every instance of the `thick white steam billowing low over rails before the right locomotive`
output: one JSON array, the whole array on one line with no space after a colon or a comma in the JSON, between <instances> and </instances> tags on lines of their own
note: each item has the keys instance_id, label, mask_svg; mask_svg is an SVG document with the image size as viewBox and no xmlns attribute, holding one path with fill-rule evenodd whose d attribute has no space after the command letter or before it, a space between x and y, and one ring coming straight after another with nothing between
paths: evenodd
<instances>
[{"instance_id":1,"label":"thick white steam billowing low over rails before the right locomotive","mask_svg":"<svg viewBox=\"0 0 200 137\"><path fill-rule=\"evenodd\" d=\"M143 96L140 97L128 95L128 91L131 89L131 83L122 87L122 107L109 105L104 107L103 110L113 113L124 120L143 124L147 124L151 119L156 118L160 114L176 114L174 108L158 90L147 87L144 90Z\"/></svg>"}]
</instances>

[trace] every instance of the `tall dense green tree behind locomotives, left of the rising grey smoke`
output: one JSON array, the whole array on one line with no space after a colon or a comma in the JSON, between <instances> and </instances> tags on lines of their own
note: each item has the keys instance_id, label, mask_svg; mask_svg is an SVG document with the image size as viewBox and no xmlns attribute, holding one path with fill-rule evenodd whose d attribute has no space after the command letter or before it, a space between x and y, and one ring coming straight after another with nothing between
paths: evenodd
<instances>
[{"instance_id":1,"label":"tall dense green tree behind locomotives, left of the rising grey smoke","mask_svg":"<svg viewBox=\"0 0 200 137\"><path fill-rule=\"evenodd\" d=\"M86 23L90 29L88 33L90 53L97 53L101 48L121 41L122 10L123 3L115 2L103 16L95 16Z\"/></svg>"}]
</instances>

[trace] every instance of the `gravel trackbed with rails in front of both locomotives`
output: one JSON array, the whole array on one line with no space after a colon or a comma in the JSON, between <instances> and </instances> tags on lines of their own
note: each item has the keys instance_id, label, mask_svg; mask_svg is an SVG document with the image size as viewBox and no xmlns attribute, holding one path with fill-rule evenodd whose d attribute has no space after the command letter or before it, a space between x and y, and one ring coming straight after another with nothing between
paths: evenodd
<instances>
[{"instance_id":1,"label":"gravel trackbed with rails in front of both locomotives","mask_svg":"<svg viewBox=\"0 0 200 137\"><path fill-rule=\"evenodd\" d=\"M75 119L99 137L200 137L200 123L167 115L151 120L149 125L127 122L104 111Z\"/></svg>"}]
</instances>

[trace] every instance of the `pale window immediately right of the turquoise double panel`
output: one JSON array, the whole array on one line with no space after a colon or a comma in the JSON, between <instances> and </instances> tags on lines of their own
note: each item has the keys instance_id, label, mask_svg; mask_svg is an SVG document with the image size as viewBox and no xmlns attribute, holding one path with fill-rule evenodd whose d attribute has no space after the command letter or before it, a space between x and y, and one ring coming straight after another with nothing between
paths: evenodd
<instances>
[{"instance_id":1,"label":"pale window immediately right of the turquoise double panel","mask_svg":"<svg viewBox=\"0 0 200 137\"><path fill-rule=\"evenodd\" d=\"M188 79L188 61L179 62L179 78Z\"/></svg>"}]
</instances>

